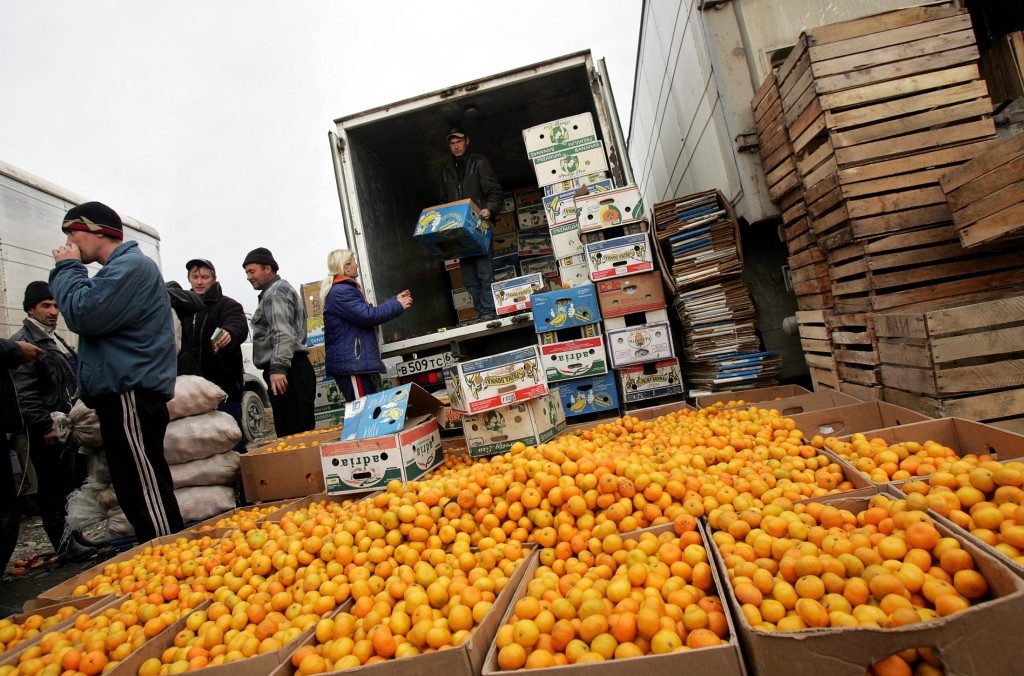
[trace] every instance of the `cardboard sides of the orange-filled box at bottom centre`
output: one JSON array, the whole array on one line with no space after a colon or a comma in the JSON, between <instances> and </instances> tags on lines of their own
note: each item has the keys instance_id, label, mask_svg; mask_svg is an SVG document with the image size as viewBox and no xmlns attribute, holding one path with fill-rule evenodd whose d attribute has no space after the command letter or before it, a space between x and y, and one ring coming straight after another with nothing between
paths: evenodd
<instances>
[{"instance_id":1,"label":"cardboard sides of the orange-filled box at bottom centre","mask_svg":"<svg viewBox=\"0 0 1024 676\"><path fill-rule=\"evenodd\" d=\"M701 544L705 549L709 550L709 563L711 563L710 551L711 548L714 547L714 543L712 542L708 531L705 530L705 524L699 523L698 527L700 531L700 539L702 541ZM645 529L644 531L624 533L621 537L624 540L636 540L640 537L641 533L653 533L654 535L658 535L666 531L672 531L673 529L674 525L672 523L665 523L663 525L655 525L651 529ZM501 624L498 628L507 624L509 619L514 615L516 601L526 596L529 583L534 580L534 573L540 567L540 565L541 560L539 556L529 562L526 574L524 575L522 582L519 583L519 586L515 591L515 596L512 598L512 602L508 604L508 608L503 614ZM736 633L735 623L731 614L725 606L725 595L722 593L723 578L719 575L714 564L712 564L712 578L715 583L715 592L718 594L719 598L722 599L726 623L729 626L729 640L727 643L700 648L697 650L684 650L669 654L647 654L642 658L608 660L607 662L598 662L586 665L565 665L562 667L552 667L548 669L530 669L525 673L530 676L534 676L535 674L537 676L558 676L558 674L570 673L586 674L586 676L622 676L622 674L630 673L630 670L632 669L633 673L643 674L644 676L682 673L715 674L715 676L729 676L731 674L736 674L744 676L746 674L746 670L743 666L743 659L739 651L739 641L737 638L738 634ZM495 631L497 634L497 629ZM480 672L478 671L477 673ZM490 649L487 651L486 660L483 663L483 676L499 676L507 673L509 672L503 671L498 666L498 646L492 643Z\"/></svg>"}]
</instances>

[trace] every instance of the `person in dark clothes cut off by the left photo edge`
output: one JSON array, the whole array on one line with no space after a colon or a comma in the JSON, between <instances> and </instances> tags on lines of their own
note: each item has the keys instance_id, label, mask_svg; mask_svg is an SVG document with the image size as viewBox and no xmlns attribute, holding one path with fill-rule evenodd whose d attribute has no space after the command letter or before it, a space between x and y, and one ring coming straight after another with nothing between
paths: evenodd
<instances>
[{"instance_id":1,"label":"person in dark clothes cut off by the left photo edge","mask_svg":"<svg viewBox=\"0 0 1024 676\"><path fill-rule=\"evenodd\" d=\"M10 555L17 544L20 515L17 512L17 488L10 465L10 441L7 434L22 431L22 412L17 406L17 390L11 369L38 360L43 350L35 345L0 338L0 571L7 569Z\"/></svg>"}]
</instances>

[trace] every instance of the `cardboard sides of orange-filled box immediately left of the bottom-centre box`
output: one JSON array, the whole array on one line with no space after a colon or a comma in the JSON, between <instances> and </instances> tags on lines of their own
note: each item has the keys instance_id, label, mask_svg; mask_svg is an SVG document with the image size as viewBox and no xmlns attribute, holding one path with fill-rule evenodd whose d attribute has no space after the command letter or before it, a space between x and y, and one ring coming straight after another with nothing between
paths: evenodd
<instances>
[{"instance_id":1,"label":"cardboard sides of orange-filled box immediately left of the bottom-centre box","mask_svg":"<svg viewBox=\"0 0 1024 676\"><path fill-rule=\"evenodd\" d=\"M478 676L486 658L487 649L494 645L495 636L504 623L506 610L512 607L511 600L518 598L515 593L524 579L524 571L536 568L539 549L532 545L524 546L525 556L509 578L502 592L495 599L494 605L466 641L458 647L449 648L426 654L418 654L402 660L385 660L377 664L355 667L349 670L327 672L333 674L357 674L358 676L424 676L425 674L443 674L444 676ZM315 628L313 628L315 629ZM303 645L311 645L314 641L312 633L304 635L304 639L296 643L288 657L280 663L280 667L271 676L294 676L291 654ZM287 647L287 646L286 646ZM241 672L240 676L249 676L252 670ZM266 672L263 672L266 673Z\"/></svg>"}]
</instances>

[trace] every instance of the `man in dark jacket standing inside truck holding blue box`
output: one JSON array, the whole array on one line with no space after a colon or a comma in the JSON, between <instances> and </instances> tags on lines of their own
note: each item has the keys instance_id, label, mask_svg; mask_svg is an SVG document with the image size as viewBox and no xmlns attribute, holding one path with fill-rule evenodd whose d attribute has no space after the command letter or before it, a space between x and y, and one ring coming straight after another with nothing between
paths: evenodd
<instances>
[{"instance_id":1,"label":"man in dark jacket standing inside truck holding blue box","mask_svg":"<svg viewBox=\"0 0 1024 676\"><path fill-rule=\"evenodd\" d=\"M502 186L490 163L482 155L469 152L469 136L461 127L449 132L447 144L452 151L452 161L441 169L440 201L446 204L472 200L480 210L480 215L490 220L490 216L502 208L503 202ZM490 295L490 285L495 281L490 260L493 253L492 247L486 254L467 256L461 261L463 282L469 295L473 297L473 307L481 322L497 316L495 299Z\"/></svg>"}]
</instances>

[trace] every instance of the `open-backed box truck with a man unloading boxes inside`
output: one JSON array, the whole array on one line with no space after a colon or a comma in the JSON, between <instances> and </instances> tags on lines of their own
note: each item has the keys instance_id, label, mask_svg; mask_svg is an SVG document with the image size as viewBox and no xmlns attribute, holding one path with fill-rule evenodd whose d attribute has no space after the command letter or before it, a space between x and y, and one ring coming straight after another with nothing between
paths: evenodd
<instances>
[{"instance_id":1,"label":"open-backed box truck with a man unloading boxes inside","mask_svg":"<svg viewBox=\"0 0 1024 676\"><path fill-rule=\"evenodd\" d=\"M417 217L438 203L445 134L461 126L470 152L486 157L506 192L537 185L522 130L590 113L610 177L632 171L607 72L589 50L458 84L338 118L329 131L346 240L356 253L371 304L411 289L411 311L381 327L381 354L400 357L397 374L436 371L454 344L531 326L529 318L457 326L443 261L413 239ZM525 324L519 324L527 320ZM389 360L390 361L390 360Z\"/></svg>"}]
</instances>

